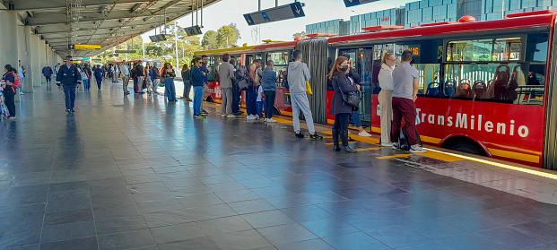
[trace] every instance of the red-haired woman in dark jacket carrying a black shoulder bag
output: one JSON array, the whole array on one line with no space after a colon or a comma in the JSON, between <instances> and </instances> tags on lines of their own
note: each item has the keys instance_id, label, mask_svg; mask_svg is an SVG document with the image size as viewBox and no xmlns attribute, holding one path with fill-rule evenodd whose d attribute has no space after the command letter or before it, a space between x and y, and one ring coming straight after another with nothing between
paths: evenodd
<instances>
[{"instance_id":1,"label":"red-haired woman in dark jacket carrying a black shoulder bag","mask_svg":"<svg viewBox=\"0 0 557 250\"><path fill-rule=\"evenodd\" d=\"M352 106L344 103L343 93L359 91L360 85L352 83L348 79L347 74L349 71L348 58L338 56L328 76L328 78L333 81L332 84L335 89L335 95L331 102L330 114L335 116L335 125L333 125L333 150L355 153L356 151L348 146L348 121L352 115ZM338 144L339 136L343 142L342 149Z\"/></svg>"}]
</instances>

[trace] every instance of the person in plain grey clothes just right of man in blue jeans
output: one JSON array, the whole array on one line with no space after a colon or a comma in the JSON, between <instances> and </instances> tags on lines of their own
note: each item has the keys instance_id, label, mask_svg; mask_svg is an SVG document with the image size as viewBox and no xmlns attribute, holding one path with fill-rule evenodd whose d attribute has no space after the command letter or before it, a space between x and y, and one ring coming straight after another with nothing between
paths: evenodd
<instances>
[{"instance_id":1,"label":"person in plain grey clothes just right of man in blue jeans","mask_svg":"<svg viewBox=\"0 0 557 250\"><path fill-rule=\"evenodd\" d=\"M219 78L221 80L221 90L222 90L222 105L221 113L222 117L234 118L232 113L232 80L236 78L234 76L234 66L232 66L229 61L231 60L231 55L225 53L222 55L222 64L219 66Z\"/></svg>"}]
</instances>

